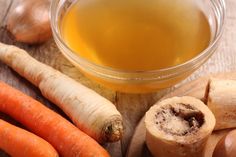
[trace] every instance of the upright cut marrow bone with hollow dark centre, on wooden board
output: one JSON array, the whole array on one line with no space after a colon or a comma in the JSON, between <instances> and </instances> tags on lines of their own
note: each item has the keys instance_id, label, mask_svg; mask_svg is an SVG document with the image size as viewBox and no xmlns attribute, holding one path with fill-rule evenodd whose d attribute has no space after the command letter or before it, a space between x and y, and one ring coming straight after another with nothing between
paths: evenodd
<instances>
[{"instance_id":1,"label":"upright cut marrow bone with hollow dark centre, on wooden board","mask_svg":"<svg viewBox=\"0 0 236 157\"><path fill-rule=\"evenodd\" d=\"M146 143L154 157L203 157L215 117L196 98L173 97L151 107L145 126Z\"/></svg>"}]
</instances>

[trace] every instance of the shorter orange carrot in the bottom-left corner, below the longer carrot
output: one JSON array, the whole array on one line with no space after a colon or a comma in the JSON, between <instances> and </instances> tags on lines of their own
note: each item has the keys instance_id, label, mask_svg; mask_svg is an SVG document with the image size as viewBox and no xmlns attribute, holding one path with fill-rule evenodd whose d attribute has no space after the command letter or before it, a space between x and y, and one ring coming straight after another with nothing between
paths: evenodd
<instances>
[{"instance_id":1,"label":"shorter orange carrot in the bottom-left corner, below the longer carrot","mask_svg":"<svg viewBox=\"0 0 236 157\"><path fill-rule=\"evenodd\" d=\"M58 157L40 137L0 119L0 148L14 157Z\"/></svg>"}]
</instances>

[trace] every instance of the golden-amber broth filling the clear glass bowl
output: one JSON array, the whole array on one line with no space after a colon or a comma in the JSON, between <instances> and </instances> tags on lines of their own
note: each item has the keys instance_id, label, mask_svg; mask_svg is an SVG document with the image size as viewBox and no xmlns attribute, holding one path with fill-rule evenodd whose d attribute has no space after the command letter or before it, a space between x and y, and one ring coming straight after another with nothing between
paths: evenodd
<instances>
[{"instance_id":1,"label":"golden-amber broth filling the clear glass bowl","mask_svg":"<svg viewBox=\"0 0 236 157\"><path fill-rule=\"evenodd\" d=\"M81 57L122 70L157 70L203 51L211 38L198 0L78 0L61 33Z\"/></svg>"}]
</instances>

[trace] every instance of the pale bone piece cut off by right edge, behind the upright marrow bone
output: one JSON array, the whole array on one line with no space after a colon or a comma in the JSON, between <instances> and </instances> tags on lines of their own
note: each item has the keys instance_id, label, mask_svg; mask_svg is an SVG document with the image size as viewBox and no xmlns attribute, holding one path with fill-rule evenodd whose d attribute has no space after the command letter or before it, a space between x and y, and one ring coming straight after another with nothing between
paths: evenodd
<instances>
[{"instance_id":1,"label":"pale bone piece cut off by right edge, behind the upright marrow bone","mask_svg":"<svg viewBox=\"0 0 236 157\"><path fill-rule=\"evenodd\" d=\"M207 105L216 117L215 130L236 127L236 81L211 79Z\"/></svg>"}]
</instances>

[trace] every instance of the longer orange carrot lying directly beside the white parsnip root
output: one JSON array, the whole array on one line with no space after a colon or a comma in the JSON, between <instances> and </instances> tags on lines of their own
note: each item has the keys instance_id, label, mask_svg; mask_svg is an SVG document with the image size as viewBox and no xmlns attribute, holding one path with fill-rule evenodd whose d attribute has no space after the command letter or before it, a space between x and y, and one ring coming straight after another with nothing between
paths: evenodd
<instances>
[{"instance_id":1,"label":"longer orange carrot lying directly beside the white parsnip root","mask_svg":"<svg viewBox=\"0 0 236 157\"><path fill-rule=\"evenodd\" d=\"M94 139L40 102L0 82L0 111L48 141L63 157L109 157Z\"/></svg>"}]
</instances>

